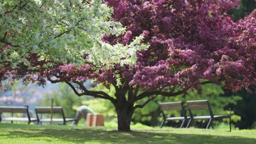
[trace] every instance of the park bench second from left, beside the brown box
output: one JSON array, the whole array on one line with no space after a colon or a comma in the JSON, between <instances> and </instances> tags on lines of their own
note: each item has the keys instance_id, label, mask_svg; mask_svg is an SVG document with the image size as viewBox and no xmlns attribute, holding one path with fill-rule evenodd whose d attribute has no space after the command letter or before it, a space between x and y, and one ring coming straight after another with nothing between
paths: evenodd
<instances>
[{"instance_id":1,"label":"park bench second from left, beside the brown box","mask_svg":"<svg viewBox=\"0 0 256 144\"><path fill-rule=\"evenodd\" d=\"M39 118L38 114L54 114L54 113L59 113L62 115L62 118L52 118L52 122L62 122L63 125L66 124L66 122L71 122L71 121L76 121L75 118L66 118L63 112L63 109L61 106L40 106L40 107L35 107L36 110L36 115L38 119L38 124L41 122L51 122L51 118Z\"/></svg>"}]
</instances>

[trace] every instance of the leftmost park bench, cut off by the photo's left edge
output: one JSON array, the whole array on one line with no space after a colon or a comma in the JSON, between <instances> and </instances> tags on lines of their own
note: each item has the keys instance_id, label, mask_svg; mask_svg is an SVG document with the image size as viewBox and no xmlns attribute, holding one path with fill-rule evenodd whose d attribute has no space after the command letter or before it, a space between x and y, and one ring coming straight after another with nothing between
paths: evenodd
<instances>
[{"instance_id":1,"label":"leftmost park bench, cut off by the photo's left edge","mask_svg":"<svg viewBox=\"0 0 256 144\"><path fill-rule=\"evenodd\" d=\"M31 118L30 113L28 112L28 106L0 106L0 113L11 113L11 117L1 117L0 115L0 122L1 121L20 121L20 122L27 122L30 124L33 121L37 121L37 118ZM26 113L27 117L14 117L14 113Z\"/></svg>"}]
</instances>

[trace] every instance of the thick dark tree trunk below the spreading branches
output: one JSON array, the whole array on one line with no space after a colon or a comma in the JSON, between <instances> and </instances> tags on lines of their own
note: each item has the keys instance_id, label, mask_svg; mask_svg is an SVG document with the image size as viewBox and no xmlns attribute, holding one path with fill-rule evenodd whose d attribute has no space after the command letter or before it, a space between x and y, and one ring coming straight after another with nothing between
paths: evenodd
<instances>
[{"instance_id":1,"label":"thick dark tree trunk below the spreading branches","mask_svg":"<svg viewBox=\"0 0 256 144\"><path fill-rule=\"evenodd\" d=\"M115 106L118 116L118 131L131 131L130 123L133 114L133 107L127 105Z\"/></svg>"}]
</instances>

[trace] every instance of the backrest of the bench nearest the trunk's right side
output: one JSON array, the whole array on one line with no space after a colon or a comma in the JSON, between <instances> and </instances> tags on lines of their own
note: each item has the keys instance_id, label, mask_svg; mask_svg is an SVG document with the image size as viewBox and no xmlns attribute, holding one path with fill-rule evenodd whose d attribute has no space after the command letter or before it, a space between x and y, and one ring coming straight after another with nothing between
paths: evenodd
<instances>
[{"instance_id":1,"label":"backrest of the bench nearest the trunk's right side","mask_svg":"<svg viewBox=\"0 0 256 144\"><path fill-rule=\"evenodd\" d=\"M161 111L181 110L183 116L187 118L182 101L160 103L160 109ZM162 114L164 115L164 112L162 112Z\"/></svg>"}]
</instances>

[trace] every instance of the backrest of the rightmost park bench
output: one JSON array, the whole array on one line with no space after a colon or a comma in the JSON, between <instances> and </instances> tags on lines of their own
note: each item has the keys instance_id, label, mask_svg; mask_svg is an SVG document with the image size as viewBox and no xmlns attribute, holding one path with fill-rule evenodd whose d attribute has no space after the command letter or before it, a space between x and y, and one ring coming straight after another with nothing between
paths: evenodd
<instances>
[{"instance_id":1,"label":"backrest of the rightmost park bench","mask_svg":"<svg viewBox=\"0 0 256 144\"><path fill-rule=\"evenodd\" d=\"M208 100L189 100L187 101L190 116L192 115L191 110L202 110L208 109L210 115L213 117L212 109Z\"/></svg>"}]
</instances>

